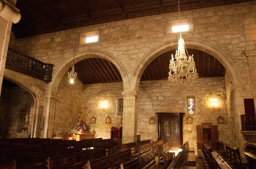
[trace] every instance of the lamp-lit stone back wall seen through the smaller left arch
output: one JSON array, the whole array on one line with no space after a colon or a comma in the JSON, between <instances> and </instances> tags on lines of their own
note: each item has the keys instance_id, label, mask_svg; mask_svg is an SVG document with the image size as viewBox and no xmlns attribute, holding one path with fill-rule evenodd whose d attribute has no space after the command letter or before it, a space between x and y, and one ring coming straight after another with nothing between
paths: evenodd
<instances>
[{"instance_id":1,"label":"lamp-lit stone back wall seen through the smaller left arch","mask_svg":"<svg viewBox=\"0 0 256 169\"><path fill-rule=\"evenodd\" d=\"M123 83L102 83L85 84L82 93L82 110L86 112L85 120L91 126L91 131L97 134L97 138L110 138L110 128L112 126L120 128L121 118L117 115L118 98L123 98ZM102 109L102 102L108 104L108 108ZM92 117L96 118L96 124L90 124ZM111 124L106 124L105 120L109 116Z\"/></svg>"}]
</instances>

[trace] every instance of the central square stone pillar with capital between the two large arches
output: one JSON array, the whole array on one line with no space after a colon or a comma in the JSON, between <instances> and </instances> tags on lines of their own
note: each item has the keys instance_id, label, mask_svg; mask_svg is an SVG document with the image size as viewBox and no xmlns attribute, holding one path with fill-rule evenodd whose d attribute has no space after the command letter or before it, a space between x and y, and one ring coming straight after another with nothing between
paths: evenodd
<instances>
[{"instance_id":1,"label":"central square stone pillar with capital between the two large arches","mask_svg":"<svg viewBox=\"0 0 256 169\"><path fill-rule=\"evenodd\" d=\"M136 91L123 91L123 137L122 143L136 142L137 96Z\"/></svg>"}]
</instances>

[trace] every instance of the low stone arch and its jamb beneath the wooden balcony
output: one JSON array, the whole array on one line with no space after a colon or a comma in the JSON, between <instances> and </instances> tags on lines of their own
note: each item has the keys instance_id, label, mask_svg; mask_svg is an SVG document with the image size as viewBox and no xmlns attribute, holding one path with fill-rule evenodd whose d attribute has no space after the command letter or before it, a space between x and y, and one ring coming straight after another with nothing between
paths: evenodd
<instances>
[{"instance_id":1,"label":"low stone arch and its jamb beneath the wooden balcony","mask_svg":"<svg viewBox=\"0 0 256 169\"><path fill-rule=\"evenodd\" d=\"M22 75L22 76L21 76ZM26 75L14 72L9 69L4 70L4 78L21 86L25 90L27 90L34 98L34 115L32 119L32 127L31 127L31 137L38 137L39 130L37 130L39 122L40 122L40 111L42 111L42 107L44 106L44 92L33 83L31 83L31 77L24 77ZM31 121L31 120L29 120Z\"/></svg>"}]
</instances>

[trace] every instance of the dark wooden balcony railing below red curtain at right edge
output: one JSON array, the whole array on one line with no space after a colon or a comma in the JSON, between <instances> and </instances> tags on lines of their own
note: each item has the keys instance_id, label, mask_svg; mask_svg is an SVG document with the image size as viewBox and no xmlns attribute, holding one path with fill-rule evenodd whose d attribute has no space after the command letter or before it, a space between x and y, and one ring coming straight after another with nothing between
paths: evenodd
<instances>
[{"instance_id":1,"label":"dark wooden balcony railing below red curtain at right edge","mask_svg":"<svg viewBox=\"0 0 256 169\"><path fill-rule=\"evenodd\" d=\"M256 115L241 115L242 131L256 131Z\"/></svg>"}]
</instances>

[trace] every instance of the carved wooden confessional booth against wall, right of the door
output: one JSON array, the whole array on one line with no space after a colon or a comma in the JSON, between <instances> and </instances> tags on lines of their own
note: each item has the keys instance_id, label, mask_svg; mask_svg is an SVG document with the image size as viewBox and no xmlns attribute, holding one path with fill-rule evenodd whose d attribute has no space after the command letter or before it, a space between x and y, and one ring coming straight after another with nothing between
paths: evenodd
<instances>
[{"instance_id":1,"label":"carved wooden confessional booth against wall, right of the door","mask_svg":"<svg viewBox=\"0 0 256 169\"><path fill-rule=\"evenodd\" d=\"M196 125L197 130L197 149L202 149L203 144L202 140L209 144L216 150L216 140L219 139L218 137L218 128L217 125L212 125L212 123L202 123L201 125Z\"/></svg>"}]
</instances>

